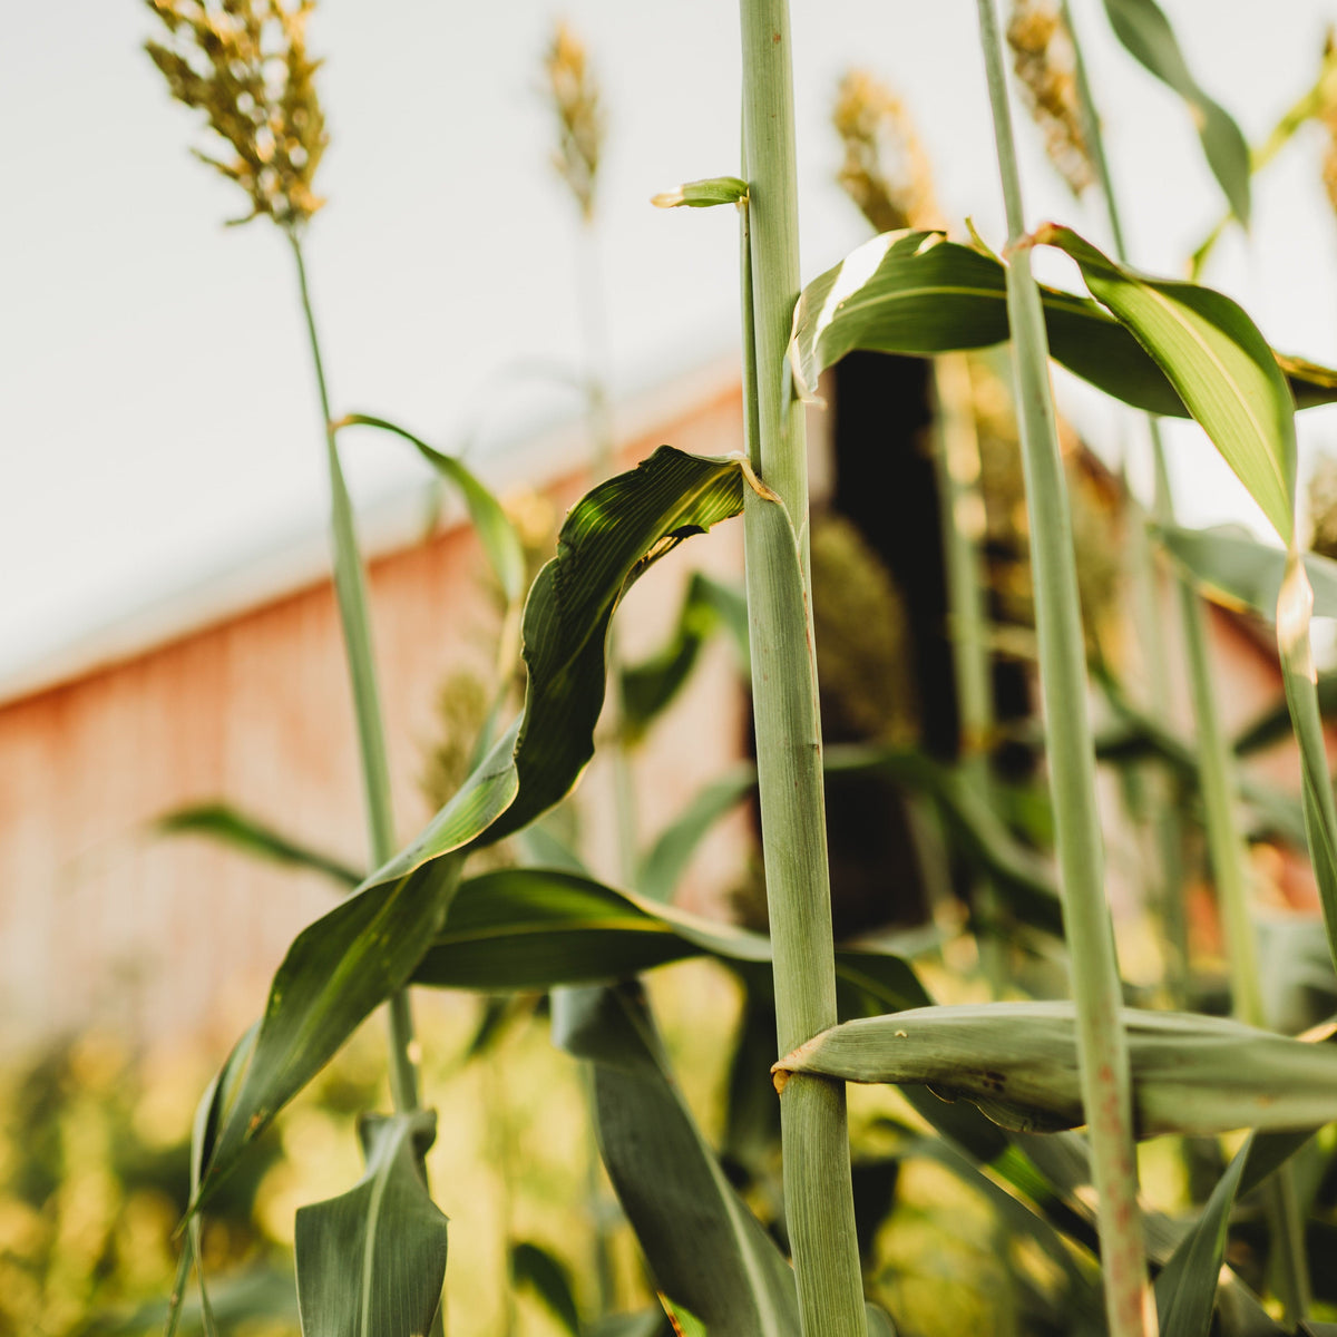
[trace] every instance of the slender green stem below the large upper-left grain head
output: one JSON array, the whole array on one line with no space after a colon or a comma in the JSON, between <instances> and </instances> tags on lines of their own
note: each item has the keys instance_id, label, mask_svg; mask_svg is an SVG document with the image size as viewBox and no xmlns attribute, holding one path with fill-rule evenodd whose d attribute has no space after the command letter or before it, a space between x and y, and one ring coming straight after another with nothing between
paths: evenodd
<instances>
[{"instance_id":1,"label":"slender green stem below the large upper-left grain head","mask_svg":"<svg viewBox=\"0 0 1337 1337\"><path fill-rule=\"evenodd\" d=\"M366 610L366 584L357 548L353 505L349 500L344 471L334 440L325 365L316 333L312 294L306 283L306 263L295 231L287 233L297 261L297 283L312 345L316 388L320 392L325 421L325 452L330 475L330 528L334 536L334 592L338 598L340 622L344 627L344 650L349 678L353 682L353 710L357 717L357 741L362 757L362 790L366 800L368 837L372 864L380 868L394 854L394 817L390 810L390 769L385 753L385 730L381 725L381 702L376 687L376 664L372 659L372 626ZM413 1012L406 992L389 1003L390 1023L390 1095L397 1111L418 1108L417 1040L413 1035Z\"/></svg>"}]
</instances>

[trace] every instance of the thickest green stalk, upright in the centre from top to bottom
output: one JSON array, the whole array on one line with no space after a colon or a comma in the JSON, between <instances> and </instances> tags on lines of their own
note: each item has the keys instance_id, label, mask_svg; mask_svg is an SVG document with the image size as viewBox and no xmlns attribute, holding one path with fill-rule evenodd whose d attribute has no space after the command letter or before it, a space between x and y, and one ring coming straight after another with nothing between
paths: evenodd
<instances>
[{"instance_id":1,"label":"thickest green stalk, upright in the centre from top to bottom","mask_svg":"<svg viewBox=\"0 0 1337 1337\"><path fill-rule=\"evenodd\" d=\"M785 376L798 298L789 9L785 0L741 0L739 11L755 349L755 404L749 413L758 443L751 465L789 517L777 524L783 521L777 500L749 489L745 545L762 854L777 1038L779 1052L787 1054L836 1023L836 973L817 663L805 596L804 410ZM747 285L746 270L743 281ZM865 1337L844 1084L792 1078L781 1094L781 1139L804 1334Z\"/></svg>"}]
</instances>

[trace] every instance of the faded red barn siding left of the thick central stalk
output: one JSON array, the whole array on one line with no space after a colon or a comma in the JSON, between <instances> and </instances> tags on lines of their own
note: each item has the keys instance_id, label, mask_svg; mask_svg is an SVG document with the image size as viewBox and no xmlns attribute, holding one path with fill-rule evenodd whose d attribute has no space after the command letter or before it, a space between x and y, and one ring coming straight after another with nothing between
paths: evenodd
<instances>
[{"instance_id":1,"label":"faded red barn siding left of the thick central stalk","mask_svg":"<svg viewBox=\"0 0 1337 1337\"><path fill-rule=\"evenodd\" d=\"M630 441L624 457L666 440L702 453L734 451L739 414L737 386L717 388ZM528 481L544 484L562 508L584 483ZM739 528L694 540L638 584L623 619L631 652L671 622L691 563L741 572ZM420 781L439 733L441 678L460 663L488 667L492 614L481 570L472 533L459 527L370 568L405 838L429 816ZM738 755L743 729L727 655L714 654L678 722L652 735L638 763L647 779L644 832ZM598 775L587 785L596 789ZM289 941L329 908L330 889L314 874L148 830L164 812L211 800L365 862L350 694L328 580L0 706L0 1040L92 1021L146 1035L214 1019L233 1032L258 1012ZM738 834L726 826L714 838L698 864L714 872L695 878L695 898L731 876Z\"/></svg>"}]
</instances>

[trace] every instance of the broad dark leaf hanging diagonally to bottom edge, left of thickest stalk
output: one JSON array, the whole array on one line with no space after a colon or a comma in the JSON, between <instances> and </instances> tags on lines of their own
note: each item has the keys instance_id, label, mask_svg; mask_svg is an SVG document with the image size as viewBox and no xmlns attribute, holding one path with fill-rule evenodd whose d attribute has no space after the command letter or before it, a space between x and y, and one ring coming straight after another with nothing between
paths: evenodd
<instances>
[{"instance_id":1,"label":"broad dark leaf hanging diagonally to bottom edge, left of thickest stalk","mask_svg":"<svg viewBox=\"0 0 1337 1337\"><path fill-rule=\"evenodd\" d=\"M604 1166L659 1289L707 1332L797 1337L794 1275L701 1135L635 988L564 989L552 1028L592 1063Z\"/></svg>"}]
</instances>

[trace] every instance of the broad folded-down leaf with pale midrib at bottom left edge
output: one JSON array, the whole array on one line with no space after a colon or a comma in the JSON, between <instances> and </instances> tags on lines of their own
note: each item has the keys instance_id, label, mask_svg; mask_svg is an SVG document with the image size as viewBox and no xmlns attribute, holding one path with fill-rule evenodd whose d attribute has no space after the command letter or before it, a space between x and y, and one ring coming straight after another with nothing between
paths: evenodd
<instances>
[{"instance_id":1,"label":"broad folded-down leaf with pale midrib at bottom left edge","mask_svg":"<svg viewBox=\"0 0 1337 1337\"><path fill-rule=\"evenodd\" d=\"M302 1337L421 1337L445 1281L447 1219L418 1170L436 1115L366 1115L358 1132L366 1174L297 1211Z\"/></svg>"}]
</instances>

